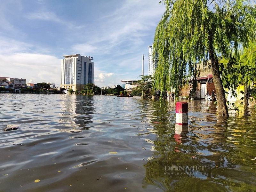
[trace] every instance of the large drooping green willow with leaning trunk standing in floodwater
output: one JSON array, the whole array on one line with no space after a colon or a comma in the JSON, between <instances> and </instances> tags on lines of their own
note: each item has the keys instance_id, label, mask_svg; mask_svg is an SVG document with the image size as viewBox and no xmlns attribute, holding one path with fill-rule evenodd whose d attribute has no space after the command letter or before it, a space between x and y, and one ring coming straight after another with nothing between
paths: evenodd
<instances>
[{"instance_id":1,"label":"large drooping green willow with leaning trunk standing in floodwater","mask_svg":"<svg viewBox=\"0 0 256 192\"><path fill-rule=\"evenodd\" d=\"M166 11L156 28L154 53L157 88L172 86L176 96L188 80L199 75L197 63L210 59L219 116L228 116L218 57L228 57L255 38L255 6L242 0L164 0ZM192 84L192 93L196 83Z\"/></svg>"}]
</instances>

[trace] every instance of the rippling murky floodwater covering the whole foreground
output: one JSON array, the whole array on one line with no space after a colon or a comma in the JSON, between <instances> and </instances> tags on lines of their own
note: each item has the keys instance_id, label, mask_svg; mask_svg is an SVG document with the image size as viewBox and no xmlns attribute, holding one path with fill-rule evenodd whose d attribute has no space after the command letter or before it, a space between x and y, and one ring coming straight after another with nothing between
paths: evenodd
<instances>
[{"instance_id":1,"label":"rippling murky floodwater covering the whole foreground","mask_svg":"<svg viewBox=\"0 0 256 192\"><path fill-rule=\"evenodd\" d=\"M256 109L1 93L0 191L256 191ZM5 128L18 128L4 131Z\"/></svg>"}]
</instances>

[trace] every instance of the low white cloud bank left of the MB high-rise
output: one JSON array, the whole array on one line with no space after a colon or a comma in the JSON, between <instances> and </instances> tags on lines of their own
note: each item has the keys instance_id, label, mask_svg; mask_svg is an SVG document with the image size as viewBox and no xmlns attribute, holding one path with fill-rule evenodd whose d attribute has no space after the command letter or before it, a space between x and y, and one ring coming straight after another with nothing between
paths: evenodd
<instances>
[{"instance_id":1,"label":"low white cloud bank left of the MB high-rise","mask_svg":"<svg viewBox=\"0 0 256 192\"><path fill-rule=\"evenodd\" d=\"M3 76L23 78L30 83L60 85L60 59L51 55L15 53L10 59L10 55L0 54L0 68L5 69L1 73Z\"/></svg>"}]
</instances>

